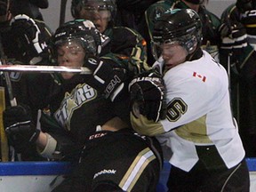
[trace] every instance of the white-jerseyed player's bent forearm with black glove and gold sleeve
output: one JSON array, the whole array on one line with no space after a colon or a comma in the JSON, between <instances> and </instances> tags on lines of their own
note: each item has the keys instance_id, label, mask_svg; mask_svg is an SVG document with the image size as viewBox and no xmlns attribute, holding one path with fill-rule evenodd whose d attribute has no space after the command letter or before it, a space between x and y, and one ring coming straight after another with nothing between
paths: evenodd
<instances>
[{"instance_id":1,"label":"white-jerseyed player's bent forearm with black glove and gold sleeve","mask_svg":"<svg viewBox=\"0 0 256 192\"><path fill-rule=\"evenodd\" d=\"M133 129L148 136L164 133L164 128L159 123L166 115L162 76L155 69L141 73L132 79L129 91Z\"/></svg>"}]
</instances>

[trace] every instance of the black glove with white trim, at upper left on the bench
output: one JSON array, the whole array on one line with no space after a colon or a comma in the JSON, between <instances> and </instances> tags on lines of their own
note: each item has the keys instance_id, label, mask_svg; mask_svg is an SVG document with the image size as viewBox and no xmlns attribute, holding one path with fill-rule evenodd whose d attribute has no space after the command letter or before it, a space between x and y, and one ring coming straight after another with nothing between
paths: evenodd
<instances>
[{"instance_id":1,"label":"black glove with white trim, at upper left on the bench","mask_svg":"<svg viewBox=\"0 0 256 192\"><path fill-rule=\"evenodd\" d=\"M41 33L41 28L35 20L25 14L19 14L12 18L10 24L17 41L17 48L24 58L28 58L28 61L39 57L46 50L46 36Z\"/></svg>"}]
</instances>

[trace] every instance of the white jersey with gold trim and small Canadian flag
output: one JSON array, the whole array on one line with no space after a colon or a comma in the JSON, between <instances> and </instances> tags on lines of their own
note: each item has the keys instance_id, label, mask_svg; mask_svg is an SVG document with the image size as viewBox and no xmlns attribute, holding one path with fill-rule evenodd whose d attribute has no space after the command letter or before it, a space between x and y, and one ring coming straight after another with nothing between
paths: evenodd
<instances>
[{"instance_id":1,"label":"white jersey with gold trim and small Canadian flag","mask_svg":"<svg viewBox=\"0 0 256 192\"><path fill-rule=\"evenodd\" d=\"M167 151L172 153L170 163L186 172L199 159L196 146L215 145L228 168L244 158L230 109L227 72L209 53L203 53L200 59L186 61L164 74L168 113L154 129L151 121L142 132L157 135L163 147L172 150ZM147 126L144 120L132 124Z\"/></svg>"}]
</instances>

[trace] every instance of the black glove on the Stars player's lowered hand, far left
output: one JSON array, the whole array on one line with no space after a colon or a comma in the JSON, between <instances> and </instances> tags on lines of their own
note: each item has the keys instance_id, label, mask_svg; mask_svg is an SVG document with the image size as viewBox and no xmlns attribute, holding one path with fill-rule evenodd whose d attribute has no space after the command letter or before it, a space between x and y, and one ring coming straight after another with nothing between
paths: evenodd
<instances>
[{"instance_id":1,"label":"black glove on the Stars player's lowered hand, far left","mask_svg":"<svg viewBox=\"0 0 256 192\"><path fill-rule=\"evenodd\" d=\"M36 129L30 115L30 108L25 105L9 107L3 113L4 130L10 145L20 153L33 144L40 131Z\"/></svg>"}]
</instances>

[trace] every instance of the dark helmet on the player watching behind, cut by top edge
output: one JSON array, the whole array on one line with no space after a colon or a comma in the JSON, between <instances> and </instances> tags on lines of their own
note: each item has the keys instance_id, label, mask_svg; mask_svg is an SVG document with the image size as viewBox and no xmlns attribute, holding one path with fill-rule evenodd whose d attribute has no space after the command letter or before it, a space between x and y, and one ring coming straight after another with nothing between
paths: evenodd
<instances>
[{"instance_id":1,"label":"dark helmet on the player watching behind, cut by top edge","mask_svg":"<svg viewBox=\"0 0 256 192\"><path fill-rule=\"evenodd\" d=\"M116 0L72 0L71 2L71 14L75 19L79 18L79 12L81 9L90 2L104 3L102 9L108 10L111 13L111 21L114 23L116 17Z\"/></svg>"}]
</instances>

